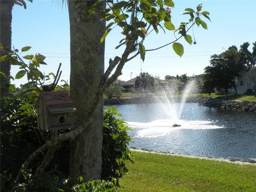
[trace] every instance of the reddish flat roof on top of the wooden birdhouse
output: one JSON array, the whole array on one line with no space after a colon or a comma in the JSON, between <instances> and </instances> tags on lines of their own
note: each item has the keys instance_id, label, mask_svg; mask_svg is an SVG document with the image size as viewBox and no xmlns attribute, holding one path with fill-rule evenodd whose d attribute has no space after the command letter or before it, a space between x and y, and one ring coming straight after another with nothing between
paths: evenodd
<instances>
[{"instance_id":1,"label":"reddish flat roof on top of the wooden birdhouse","mask_svg":"<svg viewBox=\"0 0 256 192\"><path fill-rule=\"evenodd\" d=\"M42 99L48 106L72 105L73 101L69 98L67 91L44 91L41 92L38 101Z\"/></svg>"}]
</instances>

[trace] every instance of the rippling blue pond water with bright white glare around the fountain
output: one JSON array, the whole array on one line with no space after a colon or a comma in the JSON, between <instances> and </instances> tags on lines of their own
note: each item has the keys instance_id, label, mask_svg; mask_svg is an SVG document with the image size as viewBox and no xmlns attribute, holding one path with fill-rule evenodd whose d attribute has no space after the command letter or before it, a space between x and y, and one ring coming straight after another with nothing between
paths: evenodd
<instances>
[{"instance_id":1,"label":"rippling blue pond water with bright white glare around the fountain","mask_svg":"<svg viewBox=\"0 0 256 192\"><path fill-rule=\"evenodd\" d=\"M179 108L180 103L175 103ZM114 105L132 128L131 146L175 154L256 158L256 114L185 103L179 120L163 103ZM173 127L175 123L180 127Z\"/></svg>"}]
</instances>

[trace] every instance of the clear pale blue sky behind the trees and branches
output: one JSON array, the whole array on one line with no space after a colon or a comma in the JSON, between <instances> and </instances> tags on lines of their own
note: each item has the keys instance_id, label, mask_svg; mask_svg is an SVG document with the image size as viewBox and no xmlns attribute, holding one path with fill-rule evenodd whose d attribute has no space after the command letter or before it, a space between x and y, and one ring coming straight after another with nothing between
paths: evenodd
<instances>
[{"instance_id":1,"label":"clear pale blue sky behind the trees and branches","mask_svg":"<svg viewBox=\"0 0 256 192\"><path fill-rule=\"evenodd\" d=\"M231 45L238 48L244 42L251 45L256 41L256 0L253 1L173 1L172 22L175 27L180 22L187 22L188 15L180 15L186 8L196 9L203 3L202 11L209 11L211 21L203 19L208 26L205 30L201 26L193 28L196 44L189 45L184 39L179 43L184 46L184 54L180 58L174 53L172 45L163 49L146 52L143 62L140 57L127 62L123 68L122 81L128 81L140 74L149 74L164 79L166 75L176 76L187 74L188 76L204 73L204 68L210 65L210 56L219 54ZM29 54L41 53L45 55L47 66L41 67L45 74L56 73L59 63L62 63L61 79L69 82L70 75L70 37L69 16L67 6L62 6L62 0L34 0L26 1L27 9L14 5L12 11L12 45L21 50L23 46L32 46ZM120 30L111 30L105 44L105 69L110 58L121 56L122 49L115 49L119 41L124 37ZM188 32L193 37L192 30ZM154 49L169 43L175 39L172 31L158 34L151 33L145 41L146 49ZM11 68L11 74L19 71ZM19 86L27 82L25 77L16 80L14 84Z\"/></svg>"}]
</instances>

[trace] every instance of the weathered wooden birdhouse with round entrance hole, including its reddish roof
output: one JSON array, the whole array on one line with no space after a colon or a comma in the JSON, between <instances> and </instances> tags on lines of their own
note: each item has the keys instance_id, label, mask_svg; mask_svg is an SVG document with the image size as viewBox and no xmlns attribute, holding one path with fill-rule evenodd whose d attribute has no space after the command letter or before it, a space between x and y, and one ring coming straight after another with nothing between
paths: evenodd
<instances>
[{"instance_id":1,"label":"weathered wooden birdhouse with round entrance hole, including its reddish roof","mask_svg":"<svg viewBox=\"0 0 256 192\"><path fill-rule=\"evenodd\" d=\"M37 124L41 130L60 130L74 127L73 113L76 109L67 91L41 92L36 102Z\"/></svg>"}]
</instances>

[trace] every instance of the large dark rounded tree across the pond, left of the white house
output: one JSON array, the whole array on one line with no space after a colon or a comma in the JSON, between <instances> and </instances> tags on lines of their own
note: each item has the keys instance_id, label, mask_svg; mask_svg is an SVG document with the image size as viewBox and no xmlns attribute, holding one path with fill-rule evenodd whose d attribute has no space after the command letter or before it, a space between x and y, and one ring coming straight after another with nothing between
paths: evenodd
<instances>
[{"instance_id":1,"label":"large dark rounded tree across the pond, left of the white house","mask_svg":"<svg viewBox=\"0 0 256 192\"><path fill-rule=\"evenodd\" d=\"M236 77L238 77L245 68L243 63L239 62L239 53L236 46L219 55L211 56L210 66L205 68L204 87L207 93L216 88L228 93L228 89L236 87Z\"/></svg>"}]
</instances>

